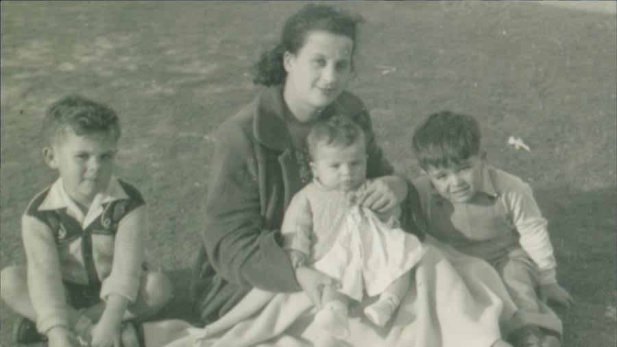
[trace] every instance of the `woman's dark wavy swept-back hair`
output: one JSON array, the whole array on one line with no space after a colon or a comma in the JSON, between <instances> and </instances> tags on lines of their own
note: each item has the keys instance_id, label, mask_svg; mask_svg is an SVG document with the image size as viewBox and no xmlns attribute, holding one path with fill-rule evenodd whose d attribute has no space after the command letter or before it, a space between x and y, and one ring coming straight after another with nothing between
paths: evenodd
<instances>
[{"instance_id":1,"label":"woman's dark wavy swept-back hair","mask_svg":"<svg viewBox=\"0 0 617 347\"><path fill-rule=\"evenodd\" d=\"M285 82L287 71L283 67L283 55L286 51L293 54L298 53L304 46L306 34L313 31L329 32L351 38L354 43L351 62L353 71L356 25L362 21L361 16L352 16L329 5L315 5L313 3L304 5L300 11L289 17L285 22L280 43L274 49L265 51L255 64L256 76L253 82L264 86L273 86Z\"/></svg>"}]
</instances>

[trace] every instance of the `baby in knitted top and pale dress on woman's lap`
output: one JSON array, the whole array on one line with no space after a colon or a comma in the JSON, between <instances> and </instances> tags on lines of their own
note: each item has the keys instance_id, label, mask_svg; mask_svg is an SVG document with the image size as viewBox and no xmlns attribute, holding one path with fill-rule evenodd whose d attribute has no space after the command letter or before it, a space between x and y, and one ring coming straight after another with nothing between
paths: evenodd
<instances>
[{"instance_id":1,"label":"baby in knitted top and pale dress on woman's lap","mask_svg":"<svg viewBox=\"0 0 617 347\"><path fill-rule=\"evenodd\" d=\"M313 182L294 195L281 232L294 267L313 267L337 280L337 287L324 287L315 323L344 339L349 299L361 301L363 291L379 295L364 313L384 326L406 294L409 270L424 250L415 235L398 226L400 208L377 215L356 203L367 184L359 125L332 117L315 125L306 143Z\"/></svg>"}]
</instances>

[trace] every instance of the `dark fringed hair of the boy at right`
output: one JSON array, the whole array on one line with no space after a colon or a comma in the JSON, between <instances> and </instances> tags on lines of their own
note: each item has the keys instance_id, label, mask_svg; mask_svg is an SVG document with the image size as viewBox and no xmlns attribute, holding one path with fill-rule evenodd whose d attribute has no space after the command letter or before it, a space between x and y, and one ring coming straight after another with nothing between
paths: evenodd
<instances>
[{"instance_id":1,"label":"dark fringed hair of the boy at right","mask_svg":"<svg viewBox=\"0 0 617 347\"><path fill-rule=\"evenodd\" d=\"M413 152L422 169L453 167L480 153L480 125L470 116L442 111L413 132Z\"/></svg>"}]
</instances>

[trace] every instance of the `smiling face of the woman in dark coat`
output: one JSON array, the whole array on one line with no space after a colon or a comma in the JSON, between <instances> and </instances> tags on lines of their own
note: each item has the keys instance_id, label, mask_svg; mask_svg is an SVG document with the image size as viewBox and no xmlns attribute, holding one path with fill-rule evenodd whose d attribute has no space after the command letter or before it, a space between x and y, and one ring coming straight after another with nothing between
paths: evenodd
<instances>
[{"instance_id":1,"label":"smiling face of the woman in dark coat","mask_svg":"<svg viewBox=\"0 0 617 347\"><path fill-rule=\"evenodd\" d=\"M351 38L318 31L307 34L298 53L285 53L285 101L296 117L308 120L302 115L310 119L341 95L351 77L353 49Z\"/></svg>"}]
</instances>

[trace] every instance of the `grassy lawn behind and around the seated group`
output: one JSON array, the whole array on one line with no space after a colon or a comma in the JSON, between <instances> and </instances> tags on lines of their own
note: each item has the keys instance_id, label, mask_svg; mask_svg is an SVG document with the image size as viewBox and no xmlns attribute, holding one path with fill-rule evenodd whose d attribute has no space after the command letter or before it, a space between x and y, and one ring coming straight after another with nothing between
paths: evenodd
<instances>
[{"instance_id":1,"label":"grassy lawn behind and around the seated group","mask_svg":"<svg viewBox=\"0 0 617 347\"><path fill-rule=\"evenodd\" d=\"M339 5L366 19L349 90L396 169L418 174L409 140L429 113L476 116L488 160L527 180L549 220L577 300L558 311L564 346L616 346L614 15L516 1ZM45 108L79 92L121 115L118 175L149 202L149 262L176 284L162 318L183 317L217 125L256 94L250 66L300 6L2 1L1 266L24 262L20 215L56 175L40 154ZM1 346L14 319L1 304Z\"/></svg>"}]
</instances>

